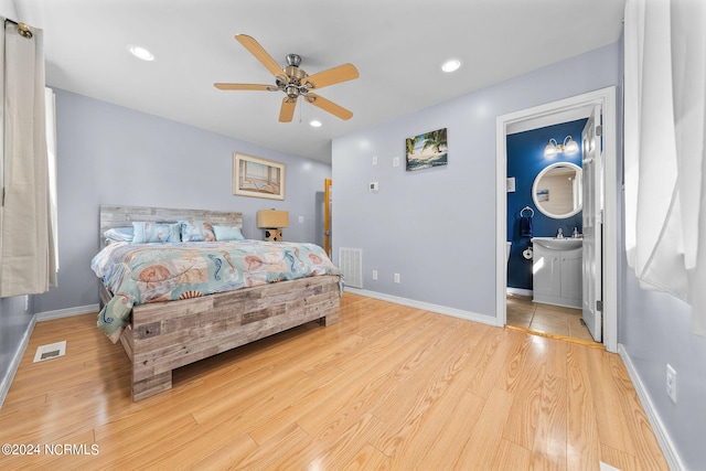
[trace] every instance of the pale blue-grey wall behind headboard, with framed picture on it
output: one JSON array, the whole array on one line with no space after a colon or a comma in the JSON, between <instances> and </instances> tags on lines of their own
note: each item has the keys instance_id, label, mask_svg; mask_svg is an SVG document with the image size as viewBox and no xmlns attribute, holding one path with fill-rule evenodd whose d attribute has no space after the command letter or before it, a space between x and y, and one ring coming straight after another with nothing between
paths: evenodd
<instances>
[{"instance_id":1,"label":"pale blue-grey wall behind headboard, with framed picture on it","mask_svg":"<svg viewBox=\"0 0 706 471\"><path fill-rule=\"evenodd\" d=\"M323 182L331 167L57 89L58 288L35 298L36 312L98 302L90 259L98 250L98 206L242 211L244 235L261 238L256 212L289 211L287 240L323 244ZM286 199L233 195L233 152L286 164ZM303 223L299 223L303 216Z\"/></svg>"}]
</instances>

